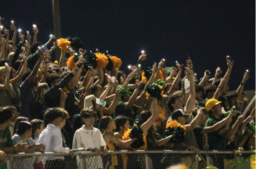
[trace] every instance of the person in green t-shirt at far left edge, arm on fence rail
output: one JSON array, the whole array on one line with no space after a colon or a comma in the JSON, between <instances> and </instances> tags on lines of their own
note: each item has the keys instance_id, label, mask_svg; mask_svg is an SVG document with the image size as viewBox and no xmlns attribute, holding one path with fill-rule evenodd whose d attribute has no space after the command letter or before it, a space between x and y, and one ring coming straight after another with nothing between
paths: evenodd
<instances>
[{"instance_id":1,"label":"person in green t-shirt at far left edge, arm on fence rail","mask_svg":"<svg viewBox=\"0 0 256 169\"><path fill-rule=\"evenodd\" d=\"M0 150L5 153L26 152L28 150L28 143L21 141L14 145L12 142L9 130L12 116L12 112L8 108L0 108ZM0 169L7 169L7 164L0 163Z\"/></svg>"}]
</instances>

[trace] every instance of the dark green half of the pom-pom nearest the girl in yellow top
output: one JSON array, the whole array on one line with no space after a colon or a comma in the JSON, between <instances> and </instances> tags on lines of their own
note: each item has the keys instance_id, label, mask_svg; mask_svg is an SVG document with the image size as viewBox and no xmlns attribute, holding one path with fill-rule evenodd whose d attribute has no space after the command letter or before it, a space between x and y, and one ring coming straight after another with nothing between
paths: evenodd
<instances>
[{"instance_id":1,"label":"dark green half of the pom-pom nearest the girl in yellow top","mask_svg":"<svg viewBox=\"0 0 256 169\"><path fill-rule=\"evenodd\" d=\"M137 138L137 140L131 144L131 148L139 149L141 146L145 145L145 142L143 141L143 130L141 127L133 127L129 135L131 138Z\"/></svg>"}]
</instances>

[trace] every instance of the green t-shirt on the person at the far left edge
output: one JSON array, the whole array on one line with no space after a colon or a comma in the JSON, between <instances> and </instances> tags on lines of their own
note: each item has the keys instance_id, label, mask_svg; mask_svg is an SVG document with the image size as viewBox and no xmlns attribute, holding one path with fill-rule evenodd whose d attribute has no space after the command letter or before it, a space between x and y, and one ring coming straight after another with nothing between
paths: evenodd
<instances>
[{"instance_id":1,"label":"green t-shirt on the person at the far left edge","mask_svg":"<svg viewBox=\"0 0 256 169\"><path fill-rule=\"evenodd\" d=\"M11 132L9 127L5 128L5 130L0 130L0 147L9 147L14 146L12 142ZM0 169L7 169L7 163L1 164Z\"/></svg>"}]
</instances>

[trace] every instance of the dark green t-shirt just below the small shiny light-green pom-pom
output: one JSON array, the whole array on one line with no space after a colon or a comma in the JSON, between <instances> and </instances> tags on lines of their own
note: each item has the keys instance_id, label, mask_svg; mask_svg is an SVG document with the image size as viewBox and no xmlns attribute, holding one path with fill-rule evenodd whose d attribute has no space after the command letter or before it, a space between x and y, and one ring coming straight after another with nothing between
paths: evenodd
<instances>
[{"instance_id":1,"label":"dark green t-shirt just below the small shiny light-green pom-pom","mask_svg":"<svg viewBox=\"0 0 256 169\"><path fill-rule=\"evenodd\" d=\"M137 106L134 104L134 106L132 108L129 108L127 110L125 110L125 103L124 101L119 101L116 104L115 110L114 110L114 117L118 116L118 115L124 115L125 117L130 117L132 119L134 119L134 115L135 112L138 110L138 108L140 108L140 106Z\"/></svg>"}]
</instances>

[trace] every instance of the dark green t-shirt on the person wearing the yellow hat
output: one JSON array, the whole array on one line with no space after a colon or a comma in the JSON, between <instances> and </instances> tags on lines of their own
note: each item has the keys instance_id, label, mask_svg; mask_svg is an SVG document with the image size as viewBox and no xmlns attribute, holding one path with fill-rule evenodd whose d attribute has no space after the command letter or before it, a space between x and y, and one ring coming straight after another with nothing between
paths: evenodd
<instances>
[{"instance_id":1,"label":"dark green t-shirt on the person wearing the yellow hat","mask_svg":"<svg viewBox=\"0 0 256 169\"><path fill-rule=\"evenodd\" d=\"M206 121L205 127L213 126L217 122L220 122L221 119L217 119L215 117L209 117ZM224 137L221 137L219 135L219 132L224 129L225 126L222 126L217 131L213 131L211 133L207 133L207 139L208 139L208 148L207 150L221 150L224 151L227 149L227 142Z\"/></svg>"}]
</instances>

